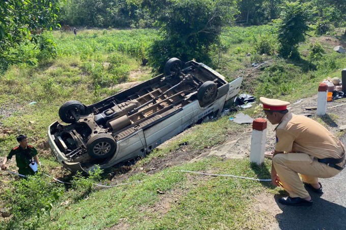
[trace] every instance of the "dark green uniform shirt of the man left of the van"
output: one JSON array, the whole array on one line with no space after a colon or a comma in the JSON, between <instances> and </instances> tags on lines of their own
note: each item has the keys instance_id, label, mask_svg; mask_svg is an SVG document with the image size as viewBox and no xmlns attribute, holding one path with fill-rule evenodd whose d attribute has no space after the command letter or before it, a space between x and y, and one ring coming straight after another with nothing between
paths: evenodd
<instances>
[{"instance_id":1,"label":"dark green uniform shirt of the man left of the van","mask_svg":"<svg viewBox=\"0 0 346 230\"><path fill-rule=\"evenodd\" d=\"M34 175L34 171L29 167L30 160L33 156L37 155L37 150L31 146L27 145L25 149L20 146L14 147L7 159L11 159L13 155L16 155L16 163L18 167L18 173L22 175Z\"/></svg>"}]
</instances>

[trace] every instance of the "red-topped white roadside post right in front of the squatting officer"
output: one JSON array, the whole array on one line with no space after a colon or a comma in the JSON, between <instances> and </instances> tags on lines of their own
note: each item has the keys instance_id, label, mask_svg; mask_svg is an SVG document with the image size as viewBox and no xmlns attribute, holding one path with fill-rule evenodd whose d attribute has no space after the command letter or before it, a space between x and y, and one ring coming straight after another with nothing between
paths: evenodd
<instances>
[{"instance_id":1,"label":"red-topped white roadside post right in front of the squatting officer","mask_svg":"<svg viewBox=\"0 0 346 230\"><path fill-rule=\"evenodd\" d=\"M250 162L261 165L264 161L264 150L267 135L267 120L256 118L252 123L252 136L250 148Z\"/></svg>"}]
</instances>

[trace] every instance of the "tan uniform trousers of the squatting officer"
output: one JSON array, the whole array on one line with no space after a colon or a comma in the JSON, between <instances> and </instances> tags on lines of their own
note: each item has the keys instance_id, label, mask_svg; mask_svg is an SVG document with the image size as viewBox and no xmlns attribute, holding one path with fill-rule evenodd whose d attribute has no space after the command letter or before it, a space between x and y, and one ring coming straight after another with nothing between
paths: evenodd
<instances>
[{"instance_id":1,"label":"tan uniform trousers of the squatting officer","mask_svg":"<svg viewBox=\"0 0 346 230\"><path fill-rule=\"evenodd\" d=\"M301 175L303 182L317 184L319 178L334 177L341 172L319 162L306 153L276 154L273 157L273 165L283 188L292 198L307 198L309 196L298 174Z\"/></svg>"}]
</instances>

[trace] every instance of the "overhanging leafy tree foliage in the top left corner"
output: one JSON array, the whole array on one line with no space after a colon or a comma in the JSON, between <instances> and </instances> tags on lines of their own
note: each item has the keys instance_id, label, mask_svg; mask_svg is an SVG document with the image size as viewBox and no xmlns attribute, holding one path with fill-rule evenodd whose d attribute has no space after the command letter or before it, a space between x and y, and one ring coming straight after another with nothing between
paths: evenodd
<instances>
[{"instance_id":1,"label":"overhanging leafy tree foliage in the top left corner","mask_svg":"<svg viewBox=\"0 0 346 230\"><path fill-rule=\"evenodd\" d=\"M57 13L64 0L3 0L0 1L0 64L9 63L8 50L24 41L37 43L36 33L59 26Z\"/></svg>"}]
</instances>

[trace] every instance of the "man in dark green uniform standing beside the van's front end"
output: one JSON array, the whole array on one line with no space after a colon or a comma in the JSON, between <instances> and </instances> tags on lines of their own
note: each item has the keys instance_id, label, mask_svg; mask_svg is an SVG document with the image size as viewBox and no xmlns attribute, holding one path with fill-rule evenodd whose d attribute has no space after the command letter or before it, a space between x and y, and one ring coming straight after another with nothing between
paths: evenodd
<instances>
[{"instance_id":1,"label":"man in dark green uniform standing beside the van's front end","mask_svg":"<svg viewBox=\"0 0 346 230\"><path fill-rule=\"evenodd\" d=\"M34 171L29 167L30 160L35 159L38 165L41 166L41 162L37 156L37 150L27 144L27 137L25 135L19 135L17 137L17 141L19 145L14 147L8 156L4 159L3 164L1 166L2 170L7 169L7 161L12 158L13 155L16 156L16 163L18 167L18 173L24 176L34 175Z\"/></svg>"}]
</instances>

